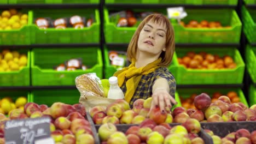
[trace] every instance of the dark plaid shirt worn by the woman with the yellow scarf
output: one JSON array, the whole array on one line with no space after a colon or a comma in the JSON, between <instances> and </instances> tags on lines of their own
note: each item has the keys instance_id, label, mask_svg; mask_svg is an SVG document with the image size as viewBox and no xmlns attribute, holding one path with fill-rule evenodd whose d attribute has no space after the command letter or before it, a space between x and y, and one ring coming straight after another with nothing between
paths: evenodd
<instances>
[{"instance_id":1,"label":"dark plaid shirt worn by the woman with the yellow scarf","mask_svg":"<svg viewBox=\"0 0 256 144\"><path fill-rule=\"evenodd\" d=\"M175 98L176 81L174 79L174 76L166 67L160 67L152 73L142 75L141 81L139 82L138 87L136 88L136 91L133 94L133 97L130 101L130 107L132 107L133 102L137 99L147 99L151 97L153 84L156 79L160 78L165 78L168 81L168 84L170 86L170 95L172 95L172 97ZM127 90L125 85L126 81L127 79L125 79L123 86L121 86L121 89L123 90L124 94Z\"/></svg>"}]
</instances>

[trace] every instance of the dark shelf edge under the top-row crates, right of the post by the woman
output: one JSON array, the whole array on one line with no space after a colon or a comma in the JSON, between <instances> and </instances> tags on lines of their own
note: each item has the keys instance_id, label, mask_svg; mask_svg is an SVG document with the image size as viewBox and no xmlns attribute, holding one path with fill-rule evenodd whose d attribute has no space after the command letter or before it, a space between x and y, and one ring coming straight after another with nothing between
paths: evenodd
<instances>
[{"instance_id":1,"label":"dark shelf edge under the top-row crates, right of the post by the woman","mask_svg":"<svg viewBox=\"0 0 256 144\"><path fill-rule=\"evenodd\" d=\"M115 44L106 44L107 47L128 47L129 44L121 44L121 43L115 43ZM240 44L176 44L177 47L239 47Z\"/></svg>"}]
</instances>

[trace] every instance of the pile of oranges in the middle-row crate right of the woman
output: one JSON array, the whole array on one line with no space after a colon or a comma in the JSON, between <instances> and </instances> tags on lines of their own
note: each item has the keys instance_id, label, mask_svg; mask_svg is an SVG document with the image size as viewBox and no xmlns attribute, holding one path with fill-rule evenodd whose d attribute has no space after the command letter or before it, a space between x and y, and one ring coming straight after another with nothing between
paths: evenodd
<instances>
[{"instance_id":1,"label":"pile of oranges in the middle-row crate right of the woman","mask_svg":"<svg viewBox=\"0 0 256 144\"><path fill-rule=\"evenodd\" d=\"M228 55L220 57L206 52L188 52L184 57L179 57L178 62L190 69L234 69L236 63Z\"/></svg>"}]
</instances>

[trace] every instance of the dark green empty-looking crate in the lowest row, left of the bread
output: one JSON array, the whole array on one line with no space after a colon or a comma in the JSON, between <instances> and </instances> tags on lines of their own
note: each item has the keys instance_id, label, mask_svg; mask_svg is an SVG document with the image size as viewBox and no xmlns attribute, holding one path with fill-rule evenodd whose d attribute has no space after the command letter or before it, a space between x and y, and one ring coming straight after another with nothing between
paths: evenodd
<instances>
[{"instance_id":1,"label":"dark green empty-looking crate in the lowest row, left of the bread","mask_svg":"<svg viewBox=\"0 0 256 144\"><path fill-rule=\"evenodd\" d=\"M78 104L80 93L77 89L38 89L33 90L30 99L39 105L45 104L49 107L55 102L69 105Z\"/></svg>"}]
</instances>

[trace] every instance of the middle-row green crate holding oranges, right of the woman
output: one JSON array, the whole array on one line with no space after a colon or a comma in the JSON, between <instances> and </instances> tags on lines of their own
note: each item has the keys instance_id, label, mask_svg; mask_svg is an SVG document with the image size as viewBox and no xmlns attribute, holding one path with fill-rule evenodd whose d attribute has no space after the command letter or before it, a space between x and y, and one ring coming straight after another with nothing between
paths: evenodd
<instances>
[{"instance_id":1,"label":"middle-row green crate holding oranges, right of the woman","mask_svg":"<svg viewBox=\"0 0 256 144\"><path fill-rule=\"evenodd\" d=\"M213 55L219 55L223 57L224 55L231 56L237 67L235 69L213 69L213 70L200 70L200 69L187 69L183 65L178 66L178 75L176 77L177 84L235 84L242 83L243 74L245 73L245 63L239 53L239 51L232 47L216 47L209 49L201 48L181 48L176 49L177 57L183 57L189 51L207 52Z\"/></svg>"}]
</instances>

